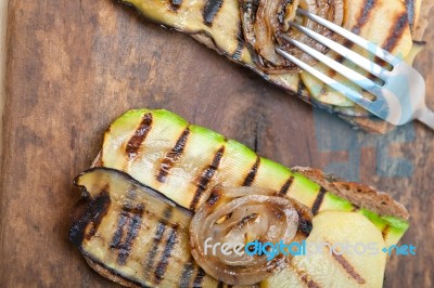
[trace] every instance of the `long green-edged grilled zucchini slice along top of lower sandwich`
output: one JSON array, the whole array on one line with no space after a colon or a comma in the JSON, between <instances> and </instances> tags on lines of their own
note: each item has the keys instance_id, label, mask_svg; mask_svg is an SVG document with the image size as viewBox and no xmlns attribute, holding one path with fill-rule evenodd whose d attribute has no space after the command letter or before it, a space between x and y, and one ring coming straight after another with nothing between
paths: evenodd
<instances>
[{"instance_id":1,"label":"long green-edged grilled zucchini slice along top of lower sandwich","mask_svg":"<svg viewBox=\"0 0 434 288\"><path fill-rule=\"evenodd\" d=\"M409 227L406 220L359 209L245 145L164 109L129 110L116 119L105 132L101 165L125 171L191 211L216 184L252 185L294 198L314 214L357 210L383 232L387 246Z\"/></svg>"}]
</instances>

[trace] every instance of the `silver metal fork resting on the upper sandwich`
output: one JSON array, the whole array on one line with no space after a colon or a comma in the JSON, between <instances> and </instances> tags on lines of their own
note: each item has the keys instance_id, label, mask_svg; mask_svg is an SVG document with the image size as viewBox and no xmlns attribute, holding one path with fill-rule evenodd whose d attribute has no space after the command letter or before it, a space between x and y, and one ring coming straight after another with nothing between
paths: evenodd
<instances>
[{"instance_id":1,"label":"silver metal fork resting on the upper sandwich","mask_svg":"<svg viewBox=\"0 0 434 288\"><path fill-rule=\"evenodd\" d=\"M349 81L370 92L375 96L375 100L371 101L362 96L360 93L354 91L347 86L328 77L316 68L278 48L276 51L280 55L299 66L303 70L314 75L316 78L330 86L334 90L340 91L350 101L357 103L383 120L386 120L395 126L400 126L413 119L418 119L434 130L434 113L430 110L425 104L425 81L416 69L413 69L405 61L392 55L376 44L369 42L368 40L346 30L345 28L342 28L341 26L337 26L303 9L298 9L297 12L380 57L385 63L391 65L392 69L380 66L379 64L345 48L344 45L296 23L290 23L290 25L315 39L319 43L328 47L330 50L341 54L343 57L349 60L354 64L360 66L374 77L383 80L384 84L372 81L368 77L360 75L359 73L332 60L323 53L297 40L291 39L288 36L283 36L286 41L319 62L326 64L331 69L347 78Z\"/></svg>"}]
</instances>

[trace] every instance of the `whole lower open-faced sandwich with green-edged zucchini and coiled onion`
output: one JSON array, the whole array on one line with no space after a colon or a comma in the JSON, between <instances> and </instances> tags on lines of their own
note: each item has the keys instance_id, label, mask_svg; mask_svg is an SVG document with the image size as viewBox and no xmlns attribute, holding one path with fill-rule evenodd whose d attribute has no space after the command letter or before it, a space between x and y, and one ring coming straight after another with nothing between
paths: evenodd
<instances>
[{"instance_id":1,"label":"whole lower open-faced sandwich with green-edged zucchini and coiled onion","mask_svg":"<svg viewBox=\"0 0 434 288\"><path fill-rule=\"evenodd\" d=\"M407 231L384 193L289 169L167 110L106 130L71 240L129 287L382 287Z\"/></svg>"}]
</instances>

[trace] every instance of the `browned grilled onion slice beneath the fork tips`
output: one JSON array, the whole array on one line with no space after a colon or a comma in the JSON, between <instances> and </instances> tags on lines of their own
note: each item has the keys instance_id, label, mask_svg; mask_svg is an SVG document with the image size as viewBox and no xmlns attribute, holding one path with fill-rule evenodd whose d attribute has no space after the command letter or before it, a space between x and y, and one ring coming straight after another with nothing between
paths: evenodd
<instances>
[{"instance_id":1,"label":"browned grilled onion slice beneath the fork tips","mask_svg":"<svg viewBox=\"0 0 434 288\"><path fill-rule=\"evenodd\" d=\"M297 16L297 8L307 10L337 25L342 26L343 24L343 0L240 0L244 38L253 50L256 64L265 73L277 74L297 69L296 66L276 53L277 47L309 65L316 63L312 57L282 40L282 35L288 35L320 52L327 51L324 45L290 27L289 22L297 22L302 26L337 40L337 36L323 26L307 17Z\"/></svg>"}]
</instances>

